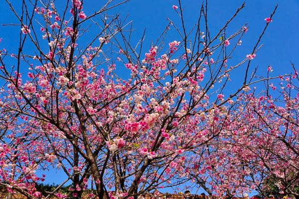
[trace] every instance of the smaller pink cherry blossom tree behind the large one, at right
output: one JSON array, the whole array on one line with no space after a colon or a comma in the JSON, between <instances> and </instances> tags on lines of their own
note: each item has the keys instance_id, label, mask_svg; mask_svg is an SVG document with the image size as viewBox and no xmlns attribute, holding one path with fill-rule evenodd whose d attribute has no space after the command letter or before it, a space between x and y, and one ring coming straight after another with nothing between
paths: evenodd
<instances>
[{"instance_id":1,"label":"smaller pink cherry blossom tree behind the large one, at right","mask_svg":"<svg viewBox=\"0 0 299 199\"><path fill-rule=\"evenodd\" d=\"M268 79L270 72L269 66ZM265 197L298 197L297 76L294 67L277 87L267 80L265 92L256 94L255 88L238 96L220 144L196 151L198 161L185 166L195 185L211 196L256 190Z\"/></svg>"}]
</instances>

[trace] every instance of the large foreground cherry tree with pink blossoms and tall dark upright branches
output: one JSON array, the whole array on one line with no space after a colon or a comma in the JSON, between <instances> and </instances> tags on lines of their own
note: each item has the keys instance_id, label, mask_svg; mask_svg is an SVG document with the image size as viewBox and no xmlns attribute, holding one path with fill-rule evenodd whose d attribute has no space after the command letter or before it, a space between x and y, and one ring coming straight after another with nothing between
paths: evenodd
<instances>
[{"instance_id":1,"label":"large foreground cherry tree with pink blossoms and tall dark upright branches","mask_svg":"<svg viewBox=\"0 0 299 199\"><path fill-rule=\"evenodd\" d=\"M289 118L297 115L284 115L279 108L271 112L268 105L259 113L261 97L253 85L279 77L255 79L257 70L250 74L276 8L253 50L228 67L248 26L233 34L227 29L244 4L211 33L207 4L188 30L179 0L173 11L180 24L168 19L160 37L145 47L145 33L133 45L131 21L110 13L127 1L108 0L87 15L83 0L66 0L64 9L55 2L22 0L21 11L6 0L19 20L20 37L16 51L8 46L0 52L0 185L29 198L81 198L89 189L90 198L115 199L155 196L158 189L191 182L210 195L233 196L262 190L264 179L282 178L279 172L285 169L291 179L285 188L291 190L297 164L276 168L276 160L273 165L268 161L272 156L286 160L277 149L289 151L292 160L297 157L297 120ZM168 40L169 29L178 37ZM244 82L228 89L230 74L244 65ZM290 137L273 136L272 129L281 131L276 124L285 118ZM268 139L269 131L272 148L266 150L261 140ZM247 143L249 137L256 140ZM277 139L283 148L275 146ZM270 155L257 165L263 153ZM40 189L46 176L36 171L55 169L67 178L52 192ZM72 183L70 196L60 192L66 183Z\"/></svg>"}]
</instances>

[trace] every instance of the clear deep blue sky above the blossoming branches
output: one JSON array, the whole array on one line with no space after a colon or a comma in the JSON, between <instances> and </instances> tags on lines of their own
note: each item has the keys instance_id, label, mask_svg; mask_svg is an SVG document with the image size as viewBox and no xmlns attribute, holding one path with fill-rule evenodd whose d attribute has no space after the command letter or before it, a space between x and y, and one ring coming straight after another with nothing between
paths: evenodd
<instances>
[{"instance_id":1,"label":"clear deep blue sky above the blossoming branches","mask_svg":"<svg viewBox=\"0 0 299 199\"><path fill-rule=\"evenodd\" d=\"M15 6L19 6L20 0L11 0ZM59 0L57 3L63 4L65 0ZM218 32L226 21L235 13L236 9L243 3L243 0L209 0L208 23L210 31L213 34ZM184 18L187 28L190 28L197 22L200 10L201 0L182 0L184 7ZM85 0L84 12L90 15L98 10L103 1ZM273 17L262 42L265 44L257 53L257 57L252 62L252 68L259 66L260 74L265 74L268 65L271 65L274 72L273 76L278 74L290 73L292 70L290 61L295 66L299 65L299 0L246 0L246 7L232 21L228 31L233 33L245 23L250 26L247 34L242 39L242 47L234 53L234 58L243 60L252 49L262 32L266 17L274 10L275 5L279 4L277 12ZM135 44L141 38L143 31L147 28L146 44L150 47L150 41L157 39L159 34L168 24L166 17L179 24L179 18L173 10L172 5L178 5L177 0L131 0L120 7L114 8L110 13L121 13L128 20L133 20L133 27L136 31L133 33ZM19 7L17 7L19 9ZM18 23L14 14L9 10L8 4L2 2L0 6L0 24ZM6 48L12 53L17 52L19 26L0 26L0 49ZM174 29L169 31L171 40L179 40ZM169 39L170 42L171 41ZM26 49L30 50L30 49ZM242 84L242 82L240 82ZM59 172L59 175L60 172ZM63 179L58 179L57 174L49 173L46 182L59 183Z\"/></svg>"}]
</instances>

